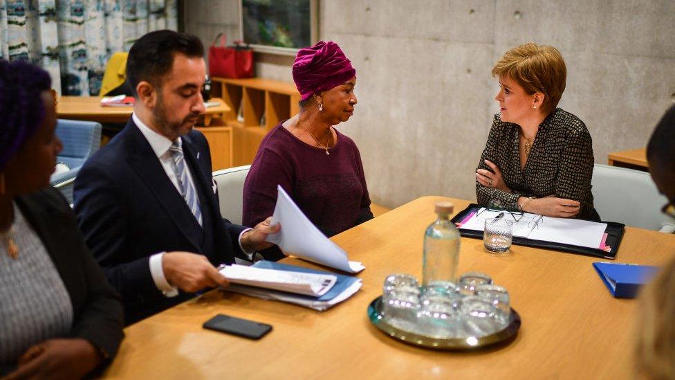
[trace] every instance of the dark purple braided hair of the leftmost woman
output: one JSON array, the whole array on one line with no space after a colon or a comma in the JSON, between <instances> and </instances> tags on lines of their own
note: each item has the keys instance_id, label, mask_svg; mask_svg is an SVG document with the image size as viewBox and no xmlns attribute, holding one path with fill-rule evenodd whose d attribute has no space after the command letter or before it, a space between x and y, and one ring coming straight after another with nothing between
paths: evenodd
<instances>
[{"instance_id":1,"label":"dark purple braided hair of the leftmost woman","mask_svg":"<svg viewBox=\"0 0 675 380\"><path fill-rule=\"evenodd\" d=\"M42 91L49 74L23 60L0 60L0 170L33 135L45 116Z\"/></svg>"}]
</instances>

